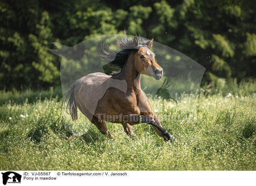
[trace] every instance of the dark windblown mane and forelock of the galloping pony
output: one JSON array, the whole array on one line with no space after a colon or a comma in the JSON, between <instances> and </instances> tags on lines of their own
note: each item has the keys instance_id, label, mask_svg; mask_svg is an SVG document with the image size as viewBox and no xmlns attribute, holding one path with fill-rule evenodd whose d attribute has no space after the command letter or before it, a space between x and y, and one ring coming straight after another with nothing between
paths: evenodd
<instances>
[{"instance_id":1,"label":"dark windblown mane and forelock of the galloping pony","mask_svg":"<svg viewBox=\"0 0 256 186\"><path fill-rule=\"evenodd\" d=\"M122 68L124 67L129 55L133 52L137 52L138 49L142 46L147 46L148 39L144 39L143 37L137 37L139 41L138 46L134 46L133 39L129 39L124 36L124 38L117 39L117 45L119 46L120 51L116 51L107 46L108 52L104 49L104 44L102 45L102 51L100 52L100 57L108 62L111 66ZM118 72L113 73L112 76L118 74Z\"/></svg>"}]
</instances>

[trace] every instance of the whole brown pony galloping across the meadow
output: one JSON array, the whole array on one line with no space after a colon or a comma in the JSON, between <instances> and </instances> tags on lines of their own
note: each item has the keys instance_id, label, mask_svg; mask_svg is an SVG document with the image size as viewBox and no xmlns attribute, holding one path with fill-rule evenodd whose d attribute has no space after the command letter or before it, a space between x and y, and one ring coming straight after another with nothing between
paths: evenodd
<instances>
[{"instance_id":1,"label":"whole brown pony galloping across the meadow","mask_svg":"<svg viewBox=\"0 0 256 186\"><path fill-rule=\"evenodd\" d=\"M135 37L132 42L135 49L123 49L126 53L116 53L112 61L112 64L121 67L119 73L113 76L92 73L76 81L67 94L70 96L67 108L72 118L77 119L78 107L102 134L109 137L113 135L108 131L105 121L121 123L125 132L131 136L134 136L131 125L146 122L164 140L173 141L175 138L163 128L140 87L141 74L156 79L163 76L163 69L155 62L154 53L149 49L152 43L153 38L146 45L140 46ZM124 61L119 55L125 56Z\"/></svg>"}]
</instances>

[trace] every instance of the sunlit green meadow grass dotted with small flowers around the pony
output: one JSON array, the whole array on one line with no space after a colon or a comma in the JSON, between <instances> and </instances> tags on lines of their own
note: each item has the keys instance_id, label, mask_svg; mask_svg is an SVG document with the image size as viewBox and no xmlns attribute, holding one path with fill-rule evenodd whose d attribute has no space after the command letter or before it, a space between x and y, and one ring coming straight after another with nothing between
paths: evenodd
<instances>
[{"instance_id":1,"label":"sunlit green meadow grass dotted with small flowers around the pony","mask_svg":"<svg viewBox=\"0 0 256 186\"><path fill-rule=\"evenodd\" d=\"M195 96L183 95L165 110L162 100L151 98L174 144L147 124L132 127L137 136L132 140L122 125L108 123L115 137L108 139L81 113L71 121L59 89L29 90L23 97L1 92L0 169L256 170L256 93L243 91L230 91L232 96L202 91L197 105Z\"/></svg>"}]
</instances>

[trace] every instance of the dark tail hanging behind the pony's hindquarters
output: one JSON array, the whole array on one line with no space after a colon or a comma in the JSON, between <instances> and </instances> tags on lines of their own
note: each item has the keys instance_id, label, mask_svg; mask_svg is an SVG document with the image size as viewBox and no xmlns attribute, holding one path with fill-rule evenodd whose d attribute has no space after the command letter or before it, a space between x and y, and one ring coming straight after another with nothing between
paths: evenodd
<instances>
[{"instance_id":1,"label":"dark tail hanging behind the pony's hindquarters","mask_svg":"<svg viewBox=\"0 0 256 186\"><path fill-rule=\"evenodd\" d=\"M73 120L77 119L77 105L75 100L75 87L76 82L71 86L71 88L64 94L64 102L67 102L67 113L71 115Z\"/></svg>"}]
</instances>

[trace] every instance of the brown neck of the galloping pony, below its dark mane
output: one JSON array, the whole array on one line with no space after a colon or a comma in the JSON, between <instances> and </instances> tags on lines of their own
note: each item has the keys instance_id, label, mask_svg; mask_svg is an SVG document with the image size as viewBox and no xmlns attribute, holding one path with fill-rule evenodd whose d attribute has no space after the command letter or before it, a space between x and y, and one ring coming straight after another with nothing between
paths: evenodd
<instances>
[{"instance_id":1,"label":"brown neck of the galloping pony, below its dark mane","mask_svg":"<svg viewBox=\"0 0 256 186\"><path fill-rule=\"evenodd\" d=\"M134 54L128 57L125 66L119 74L119 78L125 79L129 88L140 90L140 73L137 72L135 67Z\"/></svg>"}]
</instances>

